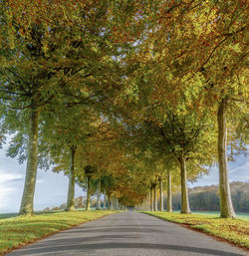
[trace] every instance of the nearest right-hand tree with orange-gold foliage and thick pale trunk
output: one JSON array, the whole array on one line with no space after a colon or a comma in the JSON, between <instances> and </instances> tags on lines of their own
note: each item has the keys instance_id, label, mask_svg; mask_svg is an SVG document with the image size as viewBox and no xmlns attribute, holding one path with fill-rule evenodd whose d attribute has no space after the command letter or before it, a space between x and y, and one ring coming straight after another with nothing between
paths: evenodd
<instances>
[{"instance_id":1,"label":"nearest right-hand tree with orange-gold foliage and thick pale trunk","mask_svg":"<svg viewBox=\"0 0 249 256\"><path fill-rule=\"evenodd\" d=\"M164 8L159 9L154 20L156 33L151 30L147 37L146 52L152 48L156 52L154 60L164 64L157 71L170 69L177 74L168 94L174 101L187 90L188 82L202 80L196 102L216 113L218 120L220 215L235 217L226 163L226 114L228 107L241 109L239 106L247 99L247 3L196 0L161 2L161 5ZM243 114L241 118L244 119Z\"/></svg>"}]
</instances>

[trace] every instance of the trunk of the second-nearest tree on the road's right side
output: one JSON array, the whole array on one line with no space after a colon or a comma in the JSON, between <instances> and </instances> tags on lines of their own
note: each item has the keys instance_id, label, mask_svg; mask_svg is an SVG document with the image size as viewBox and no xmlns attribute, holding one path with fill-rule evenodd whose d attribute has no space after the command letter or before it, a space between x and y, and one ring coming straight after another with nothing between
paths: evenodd
<instances>
[{"instance_id":1,"label":"trunk of the second-nearest tree on the road's right side","mask_svg":"<svg viewBox=\"0 0 249 256\"><path fill-rule=\"evenodd\" d=\"M187 192L186 160L181 152L180 157L180 178L181 178L181 213L191 213Z\"/></svg>"}]
</instances>

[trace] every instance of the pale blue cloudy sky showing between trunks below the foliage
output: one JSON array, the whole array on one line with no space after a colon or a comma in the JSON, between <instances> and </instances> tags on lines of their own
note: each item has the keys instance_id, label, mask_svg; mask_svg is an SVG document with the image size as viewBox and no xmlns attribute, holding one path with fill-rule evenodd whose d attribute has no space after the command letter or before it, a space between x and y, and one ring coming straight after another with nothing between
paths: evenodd
<instances>
[{"instance_id":1,"label":"pale blue cloudy sky showing between trunks below the foliage","mask_svg":"<svg viewBox=\"0 0 249 256\"><path fill-rule=\"evenodd\" d=\"M0 213L18 212L25 179L26 162L19 164L16 158L7 157L4 144L0 149ZM240 155L235 162L229 162L230 181L249 181L249 159ZM189 186L218 184L218 168L211 168L208 175L200 177ZM35 210L60 206L67 201L68 177L39 169L34 198ZM76 185L76 197L85 192Z\"/></svg>"}]
</instances>

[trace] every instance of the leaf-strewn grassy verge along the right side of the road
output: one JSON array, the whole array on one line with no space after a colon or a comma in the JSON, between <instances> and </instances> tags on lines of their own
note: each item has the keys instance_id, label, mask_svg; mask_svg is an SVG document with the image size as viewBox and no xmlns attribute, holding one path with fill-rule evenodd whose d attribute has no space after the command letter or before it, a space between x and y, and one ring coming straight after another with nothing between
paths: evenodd
<instances>
[{"instance_id":1,"label":"leaf-strewn grassy verge along the right side of the road","mask_svg":"<svg viewBox=\"0 0 249 256\"><path fill-rule=\"evenodd\" d=\"M249 249L249 221L247 220L221 219L204 214L181 214L159 211L143 211L143 213L184 224L190 228L224 239L236 246Z\"/></svg>"}]
</instances>

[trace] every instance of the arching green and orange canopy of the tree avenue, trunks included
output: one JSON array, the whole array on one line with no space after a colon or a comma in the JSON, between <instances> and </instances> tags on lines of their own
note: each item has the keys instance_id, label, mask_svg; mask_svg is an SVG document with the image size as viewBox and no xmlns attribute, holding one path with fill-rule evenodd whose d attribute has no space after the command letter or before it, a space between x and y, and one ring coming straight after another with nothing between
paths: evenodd
<instances>
[{"instance_id":1,"label":"arching green and orange canopy of the tree avenue, trunks included","mask_svg":"<svg viewBox=\"0 0 249 256\"><path fill-rule=\"evenodd\" d=\"M0 1L0 145L13 133L8 154L27 159L19 213L34 211L38 165L69 175L67 210L75 182L138 205L157 185L162 202L162 182L171 198L172 178L190 213L187 181L218 163L221 217L235 217L227 161L248 143L247 10Z\"/></svg>"}]
</instances>

